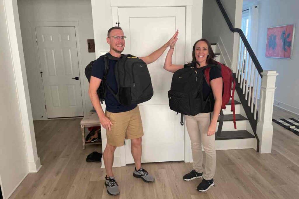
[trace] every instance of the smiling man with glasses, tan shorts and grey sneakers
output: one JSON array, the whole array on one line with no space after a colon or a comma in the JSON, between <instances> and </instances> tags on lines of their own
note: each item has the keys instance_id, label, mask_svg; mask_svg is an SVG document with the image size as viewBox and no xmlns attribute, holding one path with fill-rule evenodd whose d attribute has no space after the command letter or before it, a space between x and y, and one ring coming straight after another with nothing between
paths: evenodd
<instances>
[{"instance_id":1,"label":"smiling man with glasses, tan shorts and grey sneakers","mask_svg":"<svg viewBox=\"0 0 299 199\"><path fill-rule=\"evenodd\" d=\"M178 31L176 31L173 37L161 48L154 51L149 56L140 57L140 59L146 64L150 64L157 60L166 48L177 40L177 34ZM110 45L110 51L106 55L121 57L121 52L123 52L123 49L125 48L125 38L126 36L124 36L123 30L120 27L110 28L106 38L107 43ZM106 76L106 84L109 85L114 92L118 89L114 73L116 62L117 61L115 60L109 60L110 68L109 73ZM155 178L141 167L141 137L143 136L143 127L138 105L121 105L107 89L105 97L106 112L104 114L97 95L97 89L103 79L104 67L104 58L100 57L94 62L89 84L89 97L97 111L101 125L106 129L107 146L103 153L103 159L106 168L105 185L107 187L107 192L110 195L118 195L119 188L112 172L112 165L114 151L116 147L124 145L125 139L131 139L131 152L135 161L135 171L133 172L133 176L141 178L145 182L153 182Z\"/></svg>"}]
</instances>

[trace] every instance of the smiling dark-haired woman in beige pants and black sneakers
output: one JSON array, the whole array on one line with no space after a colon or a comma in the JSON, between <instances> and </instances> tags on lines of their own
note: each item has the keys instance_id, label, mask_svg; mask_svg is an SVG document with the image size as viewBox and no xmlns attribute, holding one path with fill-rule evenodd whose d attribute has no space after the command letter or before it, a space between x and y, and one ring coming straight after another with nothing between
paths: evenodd
<instances>
[{"instance_id":1,"label":"smiling dark-haired woman in beige pants and black sneakers","mask_svg":"<svg viewBox=\"0 0 299 199\"><path fill-rule=\"evenodd\" d=\"M176 35L177 37L177 35ZM199 39L193 45L192 61L185 65L174 65L171 62L175 42L170 46L167 53L164 69L174 73L185 67L201 68L206 65L216 65L215 54L208 40ZM203 69L204 73L205 69ZM186 125L191 140L191 149L193 156L193 170L184 175L183 179L190 181L196 178L202 178L202 182L197 186L201 192L207 191L214 185L213 176L216 170L216 150L215 150L215 131L218 116L222 104L222 76L221 68L214 66L210 68L210 86L206 81L203 82L203 96L206 100L210 94L210 104L207 104L205 110L195 116L186 116ZM205 166L202 166L202 145L206 154ZM204 169L203 169L204 168Z\"/></svg>"}]
</instances>

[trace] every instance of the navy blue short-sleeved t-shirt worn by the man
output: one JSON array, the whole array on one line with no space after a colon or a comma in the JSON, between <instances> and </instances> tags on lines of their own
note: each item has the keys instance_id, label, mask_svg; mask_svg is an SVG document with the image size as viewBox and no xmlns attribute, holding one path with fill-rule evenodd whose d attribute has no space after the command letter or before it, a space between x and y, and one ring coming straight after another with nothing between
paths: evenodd
<instances>
[{"instance_id":1,"label":"navy blue short-sleeved t-shirt worn by the man","mask_svg":"<svg viewBox=\"0 0 299 199\"><path fill-rule=\"evenodd\" d=\"M106 53L106 55L111 55L110 53ZM106 84L114 91L114 93L117 93L117 82L115 79L115 73L114 73L114 67L116 64L116 60L109 59L109 71L106 76ZM91 76L97 77L99 79L103 80L104 76L104 69L105 69L105 61L103 57L99 57L92 65L92 71ZM111 113L120 113L120 112L126 112L131 111L134 108L136 108L137 104L132 104L129 106L121 105L113 96L112 93L108 89L107 94L105 97L105 104L106 104L106 110Z\"/></svg>"}]
</instances>

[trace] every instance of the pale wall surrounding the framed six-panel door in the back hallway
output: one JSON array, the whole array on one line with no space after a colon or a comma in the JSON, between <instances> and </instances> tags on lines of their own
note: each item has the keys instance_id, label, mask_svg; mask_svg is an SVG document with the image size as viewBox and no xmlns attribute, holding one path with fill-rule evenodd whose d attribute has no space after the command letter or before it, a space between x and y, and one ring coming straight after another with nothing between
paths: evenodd
<instances>
[{"instance_id":1,"label":"pale wall surrounding the framed six-panel door in the back hallway","mask_svg":"<svg viewBox=\"0 0 299 199\"><path fill-rule=\"evenodd\" d=\"M84 69L95 53L88 53L87 39L93 39L91 0L18 0L19 18L22 32L22 42L25 55L26 72L32 106L33 120L47 119L44 95L39 80L40 69L36 64L32 33L29 22L74 22L79 21L79 41L82 67L80 77L84 79L85 99L83 106L89 111L92 107L88 96L88 81ZM85 101L85 104L84 104Z\"/></svg>"}]
</instances>

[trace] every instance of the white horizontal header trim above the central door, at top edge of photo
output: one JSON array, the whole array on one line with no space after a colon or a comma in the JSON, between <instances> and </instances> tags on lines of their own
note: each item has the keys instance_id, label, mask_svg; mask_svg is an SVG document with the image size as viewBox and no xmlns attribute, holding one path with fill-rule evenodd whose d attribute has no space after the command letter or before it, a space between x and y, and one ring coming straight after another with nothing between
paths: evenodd
<instances>
[{"instance_id":1,"label":"white horizontal header trim above the central door, at top edge of photo","mask_svg":"<svg viewBox=\"0 0 299 199\"><path fill-rule=\"evenodd\" d=\"M147 1L140 1L140 0L130 0L130 1L123 1L123 0L110 0L111 7L142 7L142 6L186 6L186 5L193 5L193 0L147 0Z\"/></svg>"}]
</instances>

